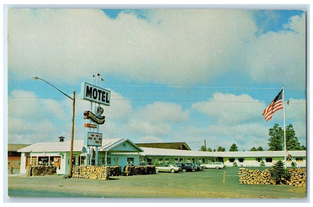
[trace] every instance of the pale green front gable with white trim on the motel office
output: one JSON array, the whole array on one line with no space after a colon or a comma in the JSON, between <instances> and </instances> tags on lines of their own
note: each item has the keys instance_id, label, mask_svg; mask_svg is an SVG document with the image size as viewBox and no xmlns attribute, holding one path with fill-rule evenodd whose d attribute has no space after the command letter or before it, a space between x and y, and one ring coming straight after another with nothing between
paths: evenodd
<instances>
[{"instance_id":1,"label":"pale green front gable with white trim on the motel office","mask_svg":"<svg viewBox=\"0 0 313 207\"><path fill-rule=\"evenodd\" d=\"M140 147L129 139L120 139L116 142L108 143L103 145L99 151L108 151L110 153L143 152Z\"/></svg>"}]
</instances>

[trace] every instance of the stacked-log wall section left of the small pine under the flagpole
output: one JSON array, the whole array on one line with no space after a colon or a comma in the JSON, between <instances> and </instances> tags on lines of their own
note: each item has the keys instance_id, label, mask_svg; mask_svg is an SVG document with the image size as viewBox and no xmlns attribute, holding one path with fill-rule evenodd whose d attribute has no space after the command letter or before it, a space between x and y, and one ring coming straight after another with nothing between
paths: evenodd
<instances>
[{"instance_id":1,"label":"stacked-log wall section left of the small pine under the flagpole","mask_svg":"<svg viewBox=\"0 0 313 207\"><path fill-rule=\"evenodd\" d=\"M254 185L269 185L275 184L273 179L271 179L271 174L268 169L245 169L239 168L239 183L240 184L254 184Z\"/></svg>"}]
</instances>

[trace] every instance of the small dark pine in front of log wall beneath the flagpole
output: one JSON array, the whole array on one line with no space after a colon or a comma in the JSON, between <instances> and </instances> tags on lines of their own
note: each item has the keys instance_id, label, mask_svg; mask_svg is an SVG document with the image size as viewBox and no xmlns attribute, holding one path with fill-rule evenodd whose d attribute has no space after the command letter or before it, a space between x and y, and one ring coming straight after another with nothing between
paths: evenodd
<instances>
[{"instance_id":1,"label":"small dark pine in front of log wall beneath the flagpole","mask_svg":"<svg viewBox=\"0 0 313 207\"><path fill-rule=\"evenodd\" d=\"M269 169L271 178L275 181L275 184L286 184L287 180L290 180L290 173L285 169L284 162L278 160L272 169Z\"/></svg>"}]
</instances>

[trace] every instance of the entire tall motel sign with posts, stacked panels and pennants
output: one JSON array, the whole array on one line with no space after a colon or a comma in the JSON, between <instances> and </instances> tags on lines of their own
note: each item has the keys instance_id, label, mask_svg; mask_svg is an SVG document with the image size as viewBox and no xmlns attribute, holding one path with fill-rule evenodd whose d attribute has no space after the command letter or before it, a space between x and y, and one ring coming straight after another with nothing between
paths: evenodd
<instances>
[{"instance_id":1,"label":"entire tall motel sign with posts, stacked panels and pennants","mask_svg":"<svg viewBox=\"0 0 313 207\"><path fill-rule=\"evenodd\" d=\"M100 76L99 73L96 85L93 85L95 75L92 75L91 84L81 83L81 92L84 92L81 99L90 102L90 109L84 112L84 119L89 119L89 123L84 124L84 127L88 128L88 132L85 133L84 137L85 146L81 148L80 165L91 165L93 157L95 158L95 165L98 165L98 147L102 146L102 133L99 133L99 125L104 124L105 116L102 116L103 108L101 105L110 106L111 91L101 88L102 78L100 87L98 87L98 76ZM93 103L95 103L94 107ZM84 163L82 163L82 160L84 160Z\"/></svg>"}]
</instances>

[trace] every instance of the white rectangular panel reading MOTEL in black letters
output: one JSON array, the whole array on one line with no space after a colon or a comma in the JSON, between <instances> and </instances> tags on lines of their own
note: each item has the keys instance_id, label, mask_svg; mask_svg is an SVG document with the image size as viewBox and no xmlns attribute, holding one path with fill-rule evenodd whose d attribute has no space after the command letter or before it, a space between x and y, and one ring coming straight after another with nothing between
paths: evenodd
<instances>
[{"instance_id":1,"label":"white rectangular panel reading MOTEL in black letters","mask_svg":"<svg viewBox=\"0 0 313 207\"><path fill-rule=\"evenodd\" d=\"M84 91L82 99L110 106L111 91L89 83L81 83L81 91Z\"/></svg>"}]
</instances>

